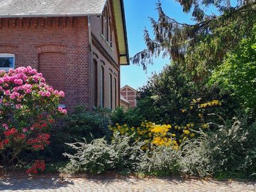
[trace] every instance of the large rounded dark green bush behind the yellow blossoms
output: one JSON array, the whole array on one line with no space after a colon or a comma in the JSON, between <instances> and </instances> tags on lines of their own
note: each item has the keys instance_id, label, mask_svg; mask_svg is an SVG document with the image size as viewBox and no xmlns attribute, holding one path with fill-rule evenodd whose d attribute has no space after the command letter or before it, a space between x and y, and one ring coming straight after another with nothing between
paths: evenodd
<instances>
[{"instance_id":1,"label":"large rounded dark green bush behind the yellow blossoms","mask_svg":"<svg viewBox=\"0 0 256 192\"><path fill-rule=\"evenodd\" d=\"M173 63L166 66L160 74L152 76L147 85L141 88L138 106L132 112L136 118L140 116L141 120L150 120L157 124L186 125L201 121L196 108L187 110L189 113L182 113L182 109L189 109L195 99L200 99L200 103L214 99L221 102L218 108L200 110L205 114L205 121L212 120L214 116L208 114L219 115L225 119L233 118L236 111L241 108L230 90L222 90L215 84L195 84L189 81L182 68Z\"/></svg>"}]
</instances>

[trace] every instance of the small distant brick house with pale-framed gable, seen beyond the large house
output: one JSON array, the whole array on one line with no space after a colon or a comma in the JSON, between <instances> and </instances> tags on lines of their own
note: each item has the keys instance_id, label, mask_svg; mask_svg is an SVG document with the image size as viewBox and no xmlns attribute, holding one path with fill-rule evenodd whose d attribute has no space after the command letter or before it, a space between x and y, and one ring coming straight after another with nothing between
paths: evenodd
<instances>
[{"instance_id":1,"label":"small distant brick house with pale-framed gable, seen beyond the large house","mask_svg":"<svg viewBox=\"0 0 256 192\"><path fill-rule=\"evenodd\" d=\"M124 97L124 104L125 102L129 102L129 108L134 108L136 106L136 97L138 97L138 91L131 86L125 85L120 89L120 94ZM121 98L122 102L122 98ZM125 108L127 106L124 106Z\"/></svg>"}]
</instances>

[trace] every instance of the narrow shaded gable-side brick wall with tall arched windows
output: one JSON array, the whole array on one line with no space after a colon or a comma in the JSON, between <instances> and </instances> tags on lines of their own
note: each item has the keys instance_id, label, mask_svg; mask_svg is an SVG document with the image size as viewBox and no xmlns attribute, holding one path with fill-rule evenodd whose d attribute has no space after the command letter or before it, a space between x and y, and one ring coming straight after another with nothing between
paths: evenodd
<instances>
[{"instance_id":1,"label":"narrow shaded gable-side brick wall with tall arched windows","mask_svg":"<svg viewBox=\"0 0 256 192\"><path fill-rule=\"evenodd\" d=\"M119 106L120 104L120 63L119 63L119 52L118 52L118 45L117 45L117 39L115 36L115 17L113 15L113 4L112 0L108 1L105 8L108 7L109 12L109 20L111 20L112 25L112 31L110 31L109 27L109 38L110 33L112 34L112 46L109 42L107 42L106 38L102 35L102 25L101 25L101 17L98 16L92 16L91 17L91 24L92 24L92 35L95 41L93 41L92 44L92 60L97 61L97 71L98 74L100 74L100 68L104 68L104 106L106 108L109 108L109 74L112 76L112 96L113 96L113 106L112 108L115 108ZM100 47L99 47L100 45ZM106 56L106 54L108 56ZM93 61L92 61L93 63ZM93 66L93 65L92 65ZM93 66L92 69L92 75L95 71L95 67ZM115 95L115 79L116 79L116 98ZM92 90L95 90L95 84L100 85L100 78L97 79L97 83L93 81L93 88ZM100 92L99 92L100 86L98 86L98 97L97 97L97 103L98 106L100 104ZM94 97L96 98L96 97ZM93 99L94 99L93 98ZM116 99L116 100L115 100ZM94 103L94 102L93 102ZM115 106L116 104L116 106Z\"/></svg>"}]
</instances>

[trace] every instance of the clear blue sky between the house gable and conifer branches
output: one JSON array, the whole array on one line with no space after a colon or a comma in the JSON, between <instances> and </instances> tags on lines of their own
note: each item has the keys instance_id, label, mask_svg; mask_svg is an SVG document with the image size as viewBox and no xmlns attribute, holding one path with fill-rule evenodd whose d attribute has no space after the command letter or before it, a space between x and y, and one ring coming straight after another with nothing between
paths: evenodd
<instances>
[{"instance_id":1,"label":"clear blue sky between the house gable and conifer branches","mask_svg":"<svg viewBox=\"0 0 256 192\"><path fill-rule=\"evenodd\" d=\"M136 52L145 49L143 41L143 29L145 27L151 31L150 21L148 17L157 19L156 3L157 0L124 0L125 17L127 25L127 36L129 43L129 54L134 56ZM179 22L191 22L190 15L182 12L182 8L175 0L161 0L164 12ZM121 87L128 84L133 88L139 88L147 82L152 72L159 72L164 65L170 63L169 58L157 58L154 65L147 68L147 74L141 66L131 63L129 66L121 67Z\"/></svg>"}]
</instances>

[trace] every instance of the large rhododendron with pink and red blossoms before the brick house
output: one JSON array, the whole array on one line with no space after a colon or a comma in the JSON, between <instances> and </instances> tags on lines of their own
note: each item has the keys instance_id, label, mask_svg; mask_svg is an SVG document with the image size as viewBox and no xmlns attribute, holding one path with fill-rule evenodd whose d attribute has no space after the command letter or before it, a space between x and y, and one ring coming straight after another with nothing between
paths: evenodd
<instances>
[{"instance_id":1,"label":"large rhododendron with pink and red blossoms before the brick house","mask_svg":"<svg viewBox=\"0 0 256 192\"><path fill-rule=\"evenodd\" d=\"M58 108L62 91L45 83L31 67L0 71L0 161L20 163L23 150L43 150L49 145L54 118L67 113ZM36 162L39 162L36 161ZM44 170L44 169L41 169Z\"/></svg>"}]
</instances>

